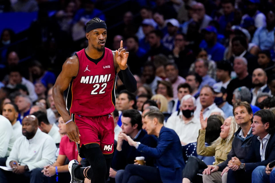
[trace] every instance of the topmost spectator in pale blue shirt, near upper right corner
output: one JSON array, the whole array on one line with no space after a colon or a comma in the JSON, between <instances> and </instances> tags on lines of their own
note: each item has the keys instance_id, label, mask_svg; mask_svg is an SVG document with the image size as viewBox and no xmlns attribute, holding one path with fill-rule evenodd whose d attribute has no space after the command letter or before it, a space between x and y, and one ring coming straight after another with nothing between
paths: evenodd
<instances>
[{"instance_id":1,"label":"topmost spectator in pale blue shirt, near upper right corner","mask_svg":"<svg viewBox=\"0 0 275 183\"><path fill-rule=\"evenodd\" d=\"M247 6L247 14L243 15L241 18L241 23L245 18L251 17L254 19L255 27L258 28L266 26L266 16L258 10L259 4L259 0L246 1L245 5Z\"/></svg>"}]
</instances>

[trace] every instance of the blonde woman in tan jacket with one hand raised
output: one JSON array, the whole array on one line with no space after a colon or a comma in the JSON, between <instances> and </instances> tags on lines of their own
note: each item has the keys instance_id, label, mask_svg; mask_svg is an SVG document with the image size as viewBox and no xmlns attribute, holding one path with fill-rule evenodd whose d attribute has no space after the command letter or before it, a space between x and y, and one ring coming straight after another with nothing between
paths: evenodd
<instances>
[{"instance_id":1,"label":"blonde woman in tan jacket with one hand raised","mask_svg":"<svg viewBox=\"0 0 275 183\"><path fill-rule=\"evenodd\" d=\"M211 174L211 169L215 167L215 165L225 161L227 159L227 154L231 150L234 134L239 128L235 118L233 116L228 117L221 126L221 133L219 138L217 138L217 140L215 140L211 146L206 147L205 129L207 127L207 118L203 120L202 112L200 114L200 121L201 130L199 131L199 137L197 140L197 154L201 156L215 156L215 162L213 163L213 166L207 166L199 158L191 156L185 165L182 183L192 182L192 179L197 175L197 173L203 173L207 175ZM219 174L221 174L221 172L219 172Z\"/></svg>"}]
</instances>

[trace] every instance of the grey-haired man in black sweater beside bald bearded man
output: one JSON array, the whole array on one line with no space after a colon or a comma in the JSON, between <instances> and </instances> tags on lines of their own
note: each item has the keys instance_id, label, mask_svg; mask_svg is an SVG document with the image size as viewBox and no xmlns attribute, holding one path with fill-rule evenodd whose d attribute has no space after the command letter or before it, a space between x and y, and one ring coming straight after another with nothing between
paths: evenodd
<instances>
[{"instance_id":1,"label":"grey-haired man in black sweater beside bald bearded man","mask_svg":"<svg viewBox=\"0 0 275 183\"><path fill-rule=\"evenodd\" d=\"M244 57L235 57L233 69L237 74L237 78L232 79L227 85L227 102L232 104L231 100L233 97L234 89L246 86L247 88L252 88L252 78L247 71L247 60Z\"/></svg>"}]
</instances>

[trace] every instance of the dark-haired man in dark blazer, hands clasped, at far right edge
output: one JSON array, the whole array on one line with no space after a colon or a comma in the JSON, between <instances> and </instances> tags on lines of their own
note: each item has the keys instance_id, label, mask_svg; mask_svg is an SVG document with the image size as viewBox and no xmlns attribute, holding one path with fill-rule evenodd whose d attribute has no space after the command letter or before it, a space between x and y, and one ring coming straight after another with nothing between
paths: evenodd
<instances>
[{"instance_id":1,"label":"dark-haired man in dark blazer, hands clasped, at far right edge","mask_svg":"<svg viewBox=\"0 0 275 183\"><path fill-rule=\"evenodd\" d=\"M231 169L227 174L227 182L251 182L252 171L257 166L266 166L275 160L275 116L270 110L260 110L254 114L251 124L252 144L244 160L233 157L228 162Z\"/></svg>"}]
</instances>

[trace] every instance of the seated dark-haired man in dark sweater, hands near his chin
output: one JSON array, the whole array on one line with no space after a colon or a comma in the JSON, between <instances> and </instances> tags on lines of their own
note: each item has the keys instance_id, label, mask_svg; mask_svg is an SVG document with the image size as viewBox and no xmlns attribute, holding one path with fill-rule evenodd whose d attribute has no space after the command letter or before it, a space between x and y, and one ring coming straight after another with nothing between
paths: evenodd
<instances>
[{"instance_id":1,"label":"seated dark-haired man in dark sweater, hands near his chin","mask_svg":"<svg viewBox=\"0 0 275 183\"><path fill-rule=\"evenodd\" d=\"M121 121L122 133L146 146L151 148L156 147L157 139L152 135L148 135L145 130L142 130L142 117L137 110L131 109L123 111ZM128 142L123 139L121 133L119 133L117 148L114 152L110 168L110 177L115 178L116 182L121 182L122 177L127 176L123 174L125 167L127 164L133 164L137 156L144 156L148 166L154 165L154 158L152 158L152 156L137 151L134 147L129 146Z\"/></svg>"}]
</instances>

